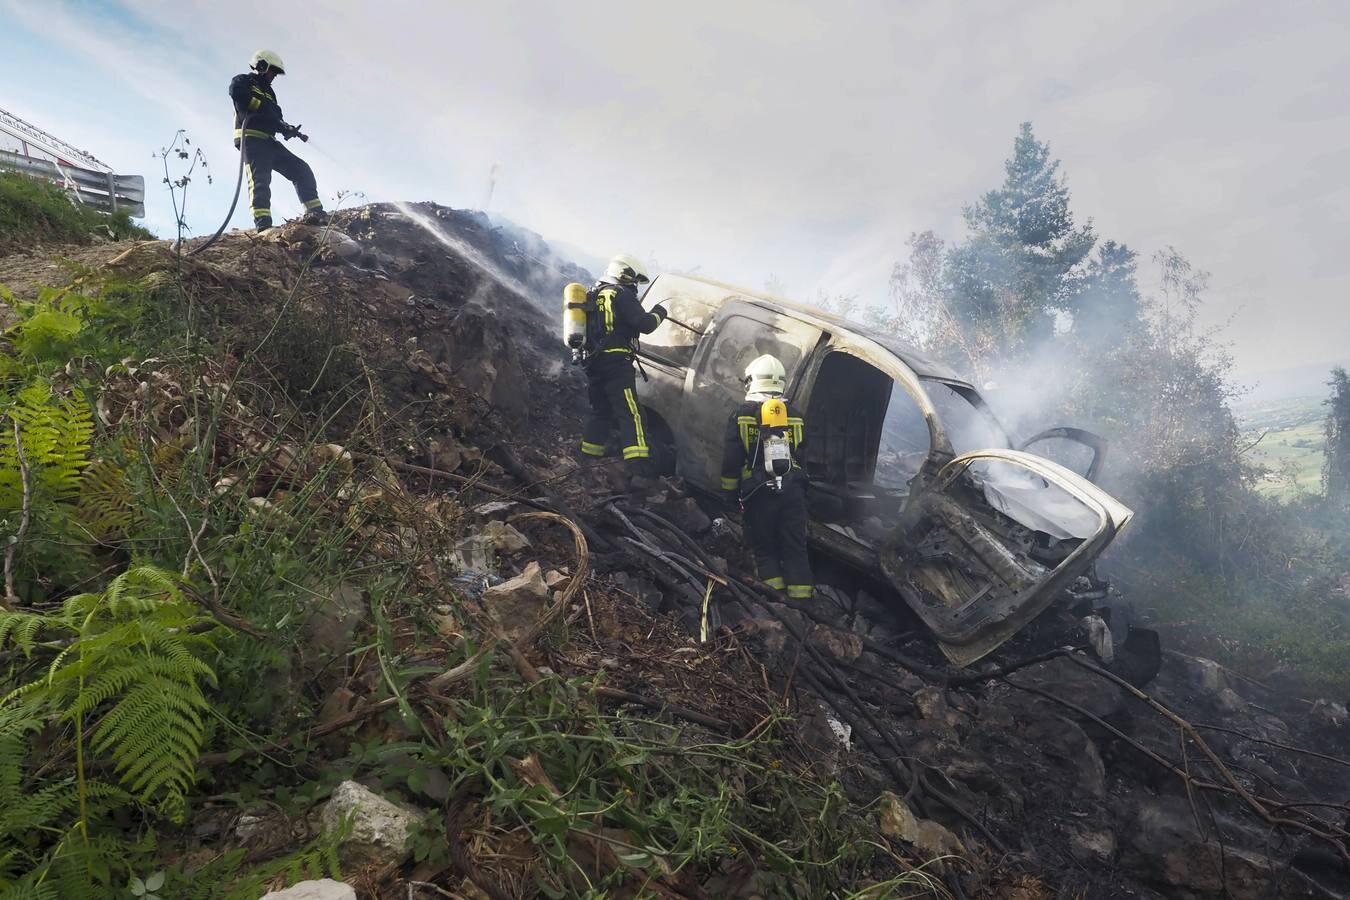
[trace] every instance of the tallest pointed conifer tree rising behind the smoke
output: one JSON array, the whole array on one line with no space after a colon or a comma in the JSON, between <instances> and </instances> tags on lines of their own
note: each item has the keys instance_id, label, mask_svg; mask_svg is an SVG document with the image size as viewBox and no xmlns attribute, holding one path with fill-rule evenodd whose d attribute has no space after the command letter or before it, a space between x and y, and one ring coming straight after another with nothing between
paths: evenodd
<instances>
[{"instance_id":1,"label":"tallest pointed conifer tree rising behind the smoke","mask_svg":"<svg viewBox=\"0 0 1350 900\"><path fill-rule=\"evenodd\" d=\"M973 333L971 362L1017 358L1052 337L1096 243L1091 221L1075 224L1060 161L1031 123L1003 170L1003 186L965 208L969 237L946 258L946 306Z\"/></svg>"}]
</instances>

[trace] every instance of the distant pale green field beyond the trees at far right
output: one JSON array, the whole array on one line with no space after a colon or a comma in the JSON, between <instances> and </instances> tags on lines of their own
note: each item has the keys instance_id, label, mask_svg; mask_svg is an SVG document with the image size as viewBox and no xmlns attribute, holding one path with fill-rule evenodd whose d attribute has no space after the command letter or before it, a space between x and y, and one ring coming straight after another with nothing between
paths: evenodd
<instances>
[{"instance_id":1,"label":"distant pale green field beyond the trees at far right","mask_svg":"<svg viewBox=\"0 0 1350 900\"><path fill-rule=\"evenodd\" d=\"M1326 406L1320 397L1238 409L1238 418L1247 441L1261 439L1247 455L1270 470L1258 487L1262 494L1295 499L1322 490Z\"/></svg>"}]
</instances>

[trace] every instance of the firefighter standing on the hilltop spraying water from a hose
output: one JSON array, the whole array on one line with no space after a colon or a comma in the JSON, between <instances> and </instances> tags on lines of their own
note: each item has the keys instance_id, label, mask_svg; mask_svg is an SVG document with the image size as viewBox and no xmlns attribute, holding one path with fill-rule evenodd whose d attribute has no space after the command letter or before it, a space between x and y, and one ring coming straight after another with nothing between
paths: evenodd
<instances>
[{"instance_id":1,"label":"firefighter standing on the hilltop spraying water from a hose","mask_svg":"<svg viewBox=\"0 0 1350 900\"><path fill-rule=\"evenodd\" d=\"M271 82L286 74L281 57L271 50L259 50L250 62L252 72L235 76L230 82L230 99L235 101L235 147L243 143L247 154L244 174L252 201L254 225L259 231L271 228L271 173L277 171L296 186L300 202L305 205L301 221L321 224L327 220L324 201L319 200L315 173L304 159L286 150L277 140L301 138L300 125L288 125L277 105Z\"/></svg>"}]
</instances>

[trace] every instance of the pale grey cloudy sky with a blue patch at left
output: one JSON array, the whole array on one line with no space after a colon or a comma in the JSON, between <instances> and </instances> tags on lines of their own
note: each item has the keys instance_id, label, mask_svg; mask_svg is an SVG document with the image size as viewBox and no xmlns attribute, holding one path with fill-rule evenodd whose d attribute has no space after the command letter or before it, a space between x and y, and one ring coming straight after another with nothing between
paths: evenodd
<instances>
[{"instance_id":1,"label":"pale grey cloudy sky with a blue patch at left","mask_svg":"<svg viewBox=\"0 0 1350 900\"><path fill-rule=\"evenodd\" d=\"M1080 219L1212 273L1241 372L1350 358L1339 0L0 0L0 107L146 174L161 233L177 128L216 175L189 224L228 208L225 88L261 46L325 198L481 208L495 166L491 210L548 237L803 300L884 302L906 235L960 237L1030 120ZM284 181L273 206L298 213Z\"/></svg>"}]
</instances>

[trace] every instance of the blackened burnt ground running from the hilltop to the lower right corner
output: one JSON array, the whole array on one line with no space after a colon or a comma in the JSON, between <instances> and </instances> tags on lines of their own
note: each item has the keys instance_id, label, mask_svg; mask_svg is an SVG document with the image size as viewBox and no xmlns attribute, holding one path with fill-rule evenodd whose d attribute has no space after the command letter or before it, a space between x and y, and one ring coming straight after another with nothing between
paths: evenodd
<instances>
[{"instance_id":1,"label":"blackened burnt ground running from the hilltop to the lower right corner","mask_svg":"<svg viewBox=\"0 0 1350 900\"><path fill-rule=\"evenodd\" d=\"M961 858L946 864L953 896L1350 897L1343 703L1170 652L1143 692L1087 652L1021 667L1084 642L1064 610L971 673L876 586L841 582L810 610L765 602L737 586L749 569L734 533L678 483L652 505L676 529L625 521L608 505L614 464L578 464L585 387L552 306L580 274L540 267L479 215L416 212L440 236L373 205L339 213L338 233L230 233L181 263L163 242L58 250L68 263L16 254L0 283L22 298L84 270L143 282L181 264L227 362L254 352L301 397L364 379L378 410L339 410L332 440L378 452L414 494L446 491L421 470L448 472L466 503L487 488L533 498L591 538L594 602L572 610L574 642L536 648L535 664L608 667L610 684L738 727L786 708L811 766L860 803L899 797L911 815L884 824L892 842ZM333 347L358 347L359 364ZM633 536L730 578L709 644L680 630L697 622L688 591Z\"/></svg>"}]
</instances>

